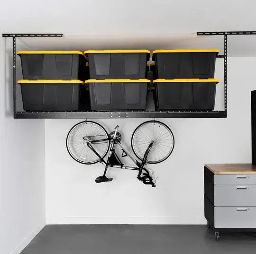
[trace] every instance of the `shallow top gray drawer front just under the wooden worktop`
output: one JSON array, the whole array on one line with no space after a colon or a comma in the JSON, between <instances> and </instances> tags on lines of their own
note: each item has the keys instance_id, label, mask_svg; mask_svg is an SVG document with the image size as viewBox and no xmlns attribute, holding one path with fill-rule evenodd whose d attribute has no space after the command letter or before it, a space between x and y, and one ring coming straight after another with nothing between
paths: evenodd
<instances>
[{"instance_id":1,"label":"shallow top gray drawer front just under the wooden worktop","mask_svg":"<svg viewBox=\"0 0 256 254\"><path fill-rule=\"evenodd\" d=\"M247 185L256 184L256 175L214 175L214 184L216 185Z\"/></svg>"}]
</instances>

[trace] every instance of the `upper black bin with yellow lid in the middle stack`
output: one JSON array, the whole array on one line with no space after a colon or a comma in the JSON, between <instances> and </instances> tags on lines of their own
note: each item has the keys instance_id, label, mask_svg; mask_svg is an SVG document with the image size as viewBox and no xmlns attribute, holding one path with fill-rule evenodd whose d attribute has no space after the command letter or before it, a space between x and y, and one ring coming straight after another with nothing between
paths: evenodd
<instances>
[{"instance_id":1,"label":"upper black bin with yellow lid in the middle stack","mask_svg":"<svg viewBox=\"0 0 256 254\"><path fill-rule=\"evenodd\" d=\"M87 50L91 79L145 79L148 50Z\"/></svg>"}]
</instances>

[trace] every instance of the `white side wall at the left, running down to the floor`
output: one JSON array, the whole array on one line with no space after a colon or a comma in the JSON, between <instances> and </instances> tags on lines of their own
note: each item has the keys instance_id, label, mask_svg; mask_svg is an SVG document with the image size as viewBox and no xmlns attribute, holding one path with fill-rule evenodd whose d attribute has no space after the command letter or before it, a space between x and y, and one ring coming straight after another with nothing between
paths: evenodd
<instances>
[{"instance_id":1,"label":"white side wall at the left, running down to the floor","mask_svg":"<svg viewBox=\"0 0 256 254\"><path fill-rule=\"evenodd\" d=\"M19 254L46 223L45 121L13 119L11 45L0 37L0 254Z\"/></svg>"}]
</instances>

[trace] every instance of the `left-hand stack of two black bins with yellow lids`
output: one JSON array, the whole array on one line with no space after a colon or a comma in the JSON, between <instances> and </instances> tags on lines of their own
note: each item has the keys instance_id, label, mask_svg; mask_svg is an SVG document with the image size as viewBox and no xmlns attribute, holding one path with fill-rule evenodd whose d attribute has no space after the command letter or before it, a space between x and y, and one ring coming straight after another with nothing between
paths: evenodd
<instances>
[{"instance_id":1,"label":"left-hand stack of two black bins with yellow lids","mask_svg":"<svg viewBox=\"0 0 256 254\"><path fill-rule=\"evenodd\" d=\"M26 111L77 111L82 85L88 78L86 57L80 51L19 51Z\"/></svg>"}]
</instances>

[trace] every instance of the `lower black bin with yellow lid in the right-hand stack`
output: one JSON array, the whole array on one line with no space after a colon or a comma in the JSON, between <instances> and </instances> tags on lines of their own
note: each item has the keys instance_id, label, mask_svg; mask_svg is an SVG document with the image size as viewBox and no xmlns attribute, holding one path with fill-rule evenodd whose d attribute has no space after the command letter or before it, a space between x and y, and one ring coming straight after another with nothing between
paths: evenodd
<instances>
[{"instance_id":1,"label":"lower black bin with yellow lid in the right-hand stack","mask_svg":"<svg viewBox=\"0 0 256 254\"><path fill-rule=\"evenodd\" d=\"M158 110L213 110L219 79L156 79Z\"/></svg>"}]
</instances>

